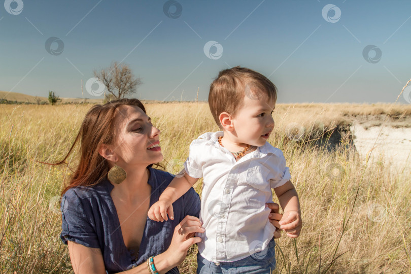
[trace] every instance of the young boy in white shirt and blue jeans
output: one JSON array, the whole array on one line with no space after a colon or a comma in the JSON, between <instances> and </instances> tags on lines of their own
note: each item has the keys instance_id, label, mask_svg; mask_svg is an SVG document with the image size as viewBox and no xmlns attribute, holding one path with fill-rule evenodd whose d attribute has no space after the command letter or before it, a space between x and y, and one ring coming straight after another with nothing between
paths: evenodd
<instances>
[{"instance_id":1,"label":"young boy in white shirt and blue jeans","mask_svg":"<svg viewBox=\"0 0 411 274\"><path fill-rule=\"evenodd\" d=\"M211 84L209 106L222 129L204 133L190 145L184 176L178 176L148 216L173 219L172 203L203 177L197 273L271 273L275 269L276 228L268 221L274 189L284 215L279 222L290 237L301 230L300 204L283 152L267 139L274 127L277 88L243 67L223 70ZM292 229L290 229L290 227Z\"/></svg>"}]
</instances>

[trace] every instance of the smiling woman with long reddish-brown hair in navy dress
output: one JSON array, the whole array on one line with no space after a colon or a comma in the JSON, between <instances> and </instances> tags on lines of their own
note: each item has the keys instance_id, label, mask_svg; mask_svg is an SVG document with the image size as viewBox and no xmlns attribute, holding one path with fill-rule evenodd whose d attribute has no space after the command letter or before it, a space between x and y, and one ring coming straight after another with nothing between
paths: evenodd
<instances>
[{"instance_id":1,"label":"smiling woman with long reddish-brown hair in navy dress","mask_svg":"<svg viewBox=\"0 0 411 274\"><path fill-rule=\"evenodd\" d=\"M159 134L138 99L96 105L70 151L56 163L64 163L81 139L80 162L61 199L60 238L68 244L76 273L151 273L150 256L158 273L179 273L188 248L200 241L195 232L204 230L194 189L173 204L174 220L147 217L173 179L152 167L163 160ZM268 206L278 211L278 204ZM271 215L279 227L281 215Z\"/></svg>"}]
</instances>

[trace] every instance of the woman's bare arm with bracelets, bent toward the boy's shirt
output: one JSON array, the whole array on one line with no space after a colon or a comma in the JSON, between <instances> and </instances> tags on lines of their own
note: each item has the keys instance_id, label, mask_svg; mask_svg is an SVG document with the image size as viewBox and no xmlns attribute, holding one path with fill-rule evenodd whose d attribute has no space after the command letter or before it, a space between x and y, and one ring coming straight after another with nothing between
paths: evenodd
<instances>
[{"instance_id":1,"label":"woman's bare arm with bracelets, bent toward the boy's shirt","mask_svg":"<svg viewBox=\"0 0 411 274\"><path fill-rule=\"evenodd\" d=\"M186 216L174 229L172 243L168 249L154 256L154 263L159 274L164 274L179 265L186 257L188 248L201 241L200 237L194 237L195 232L204 232L200 220L197 217ZM68 241L68 251L76 274L106 274L100 249ZM120 273L150 274L146 262Z\"/></svg>"}]
</instances>

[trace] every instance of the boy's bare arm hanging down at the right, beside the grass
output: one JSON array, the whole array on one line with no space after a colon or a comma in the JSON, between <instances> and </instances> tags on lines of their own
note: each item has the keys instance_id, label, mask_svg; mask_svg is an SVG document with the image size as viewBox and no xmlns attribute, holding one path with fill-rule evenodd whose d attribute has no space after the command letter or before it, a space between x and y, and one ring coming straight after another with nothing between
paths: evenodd
<instances>
[{"instance_id":1,"label":"boy's bare arm hanging down at the right, beside the grass","mask_svg":"<svg viewBox=\"0 0 411 274\"><path fill-rule=\"evenodd\" d=\"M276 187L274 191L284 210L283 218L279 222L280 228L284 229L289 237L298 237L301 231L302 220L297 191L290 181Z\"/></svg>"}]
</instances>

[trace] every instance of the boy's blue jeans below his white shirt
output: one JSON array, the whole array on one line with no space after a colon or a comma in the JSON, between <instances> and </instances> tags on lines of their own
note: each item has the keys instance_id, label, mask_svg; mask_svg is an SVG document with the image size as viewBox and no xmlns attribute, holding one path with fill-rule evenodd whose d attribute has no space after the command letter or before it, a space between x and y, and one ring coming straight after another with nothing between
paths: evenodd
<instances>
[{"instance_id":1,"label":"boy's blue jeans below his white shirt","mask_svg":"<svg viewBox=\"0 0 411 274\"><path fill-rule=\"evenodd\" d=\"M235 262L218 264L204 259L197 253L197 274L272 274L276 268L276 242L274 239L258 253Z\"/></svg>"}]
</instances>

